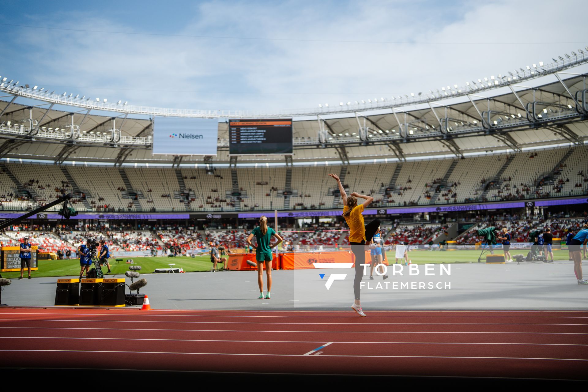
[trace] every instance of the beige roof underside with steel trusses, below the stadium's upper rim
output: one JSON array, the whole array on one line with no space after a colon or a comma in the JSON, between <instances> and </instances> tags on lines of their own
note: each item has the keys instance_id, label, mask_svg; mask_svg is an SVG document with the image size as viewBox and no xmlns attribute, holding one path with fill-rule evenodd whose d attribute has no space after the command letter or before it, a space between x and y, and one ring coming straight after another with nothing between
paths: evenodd
<instances>
[{"instance_id":1,"label":"beige roof underside with steel trusses, below the stadium's upper rim","mask_svg":"<svg viewBox=\"0 0 588 392\"><path fill-rule=\"evenodd\" d=\"M470 92L459 103L429 99L427 105L407 110L392 106L376 114L353 111L346 117L296 120L292 159L346 162L358 159L446 155L486 150L520 150L588 140L586 76L560 79L528 88L509 85L502 95ZM109 163L178 163L175 156L153 156L153 122L146 116L86 108L53 109L0 101L0 158L68 160ZM31 131L31 119L38 130ZM73 126L71 126L73 125ZM77 128L76 128L77 127ZM72 140L72 129L76 133ZM113 129L115 129L113 131ZM182 163L210 162L184 156ZM219 123L215 163L229 163L228 126ZM284 162L283 156L245 156L239 162Z\"/></svg>"}]
</instances>

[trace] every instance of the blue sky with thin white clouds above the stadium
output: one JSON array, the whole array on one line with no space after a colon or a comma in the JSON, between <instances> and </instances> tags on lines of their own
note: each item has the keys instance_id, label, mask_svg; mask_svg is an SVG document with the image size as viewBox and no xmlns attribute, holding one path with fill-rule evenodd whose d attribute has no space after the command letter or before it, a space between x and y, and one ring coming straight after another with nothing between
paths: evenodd
<instances>
[{"instance_id":1,"label":"blue sky with thin white clouds above the stadium","mask_svg":"<svg viewBox=\"0 0 588 392\"><path fill-rule=\"evenodd\" d=\"M4 1L0 75L134 105L314 108L550 62L588 45L587 4Z\"/></svg>"}]
</instances>

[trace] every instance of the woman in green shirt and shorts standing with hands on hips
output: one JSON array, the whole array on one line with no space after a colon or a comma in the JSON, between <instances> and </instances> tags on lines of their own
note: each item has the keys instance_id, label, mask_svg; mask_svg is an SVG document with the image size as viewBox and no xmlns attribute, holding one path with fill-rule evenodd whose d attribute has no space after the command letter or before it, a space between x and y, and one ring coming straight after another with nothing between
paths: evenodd
<instances>
[{"instance_id":1,"label":"woman in green shirt and shorts standing with hands on hips","mask_svg":"<svg viewBox=\"0 0 588 392\"><path fill-rule=\"evenodd\" d=\"M251 243L253 236L257 240L257 245ZM272 236L276 237L278 242L270 245ZM278 246L281 242L282 237L271 227L268 227L268 218L263 215L259 218L259 226L255 227L247 237L247 243L255 249L255 260L258 264L258 299L260 300L263 299L263 263L265 262L265 273L268 276L268 294L266 294L265 298L270 299L270 291L272 291L272 248Z\"/></svg>"}]
</instances>

